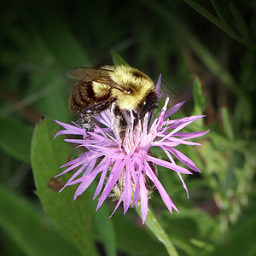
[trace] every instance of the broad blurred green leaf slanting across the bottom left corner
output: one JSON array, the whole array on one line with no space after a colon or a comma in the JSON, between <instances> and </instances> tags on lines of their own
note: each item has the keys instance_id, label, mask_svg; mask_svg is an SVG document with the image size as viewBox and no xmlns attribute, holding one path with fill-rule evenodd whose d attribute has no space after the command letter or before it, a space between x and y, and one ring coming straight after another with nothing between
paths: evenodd
<instances>
[{"instance_id":1,"label":"broad blurred green leaf slanting across the bottom left corner","mask_svg":"<svg viewBox=\"0 0 256 256\"><path fill-rule=\"evenodd\" d=\"M24 198L0 185L0 225L25 255L80 255Z\"/></svg>"}]
</instances>

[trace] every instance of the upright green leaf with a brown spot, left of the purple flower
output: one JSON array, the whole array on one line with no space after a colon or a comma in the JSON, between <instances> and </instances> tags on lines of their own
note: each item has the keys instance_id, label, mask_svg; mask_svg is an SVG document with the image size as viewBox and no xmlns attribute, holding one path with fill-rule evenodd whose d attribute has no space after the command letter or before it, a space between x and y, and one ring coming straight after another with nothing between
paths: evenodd
<instances>
[{"instance_id":1,"label":"upright green leaf with a brown spot, left of the purple flower","mask_svg":"<svg viewBox=\"0 0 256 256\"><path fill-rule=\"evenodd\" d=\"M58 130L58 125L46 117L33 133L32 171L37 195L45 212L63 234L69 236L84 255L97 255L91 227L90 198L85 195L73 201L74 186L58 193L65 181L56 179L55 175L60 172L59 166L70 160L72 155L62 137L53 141Z\"/></svg>"}]
</instances>

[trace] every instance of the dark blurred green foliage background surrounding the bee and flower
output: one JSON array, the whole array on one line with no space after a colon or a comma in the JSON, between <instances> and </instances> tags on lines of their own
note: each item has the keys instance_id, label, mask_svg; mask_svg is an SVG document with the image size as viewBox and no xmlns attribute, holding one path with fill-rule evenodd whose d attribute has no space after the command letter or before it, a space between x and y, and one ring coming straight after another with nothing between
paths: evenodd
<instances>
[{"instance_id":1,"label":"dark blurred green foliage background surrounding the bee and flower","mask_svg":"<svg viewBox=\"0 0 256 256\"><path fill-rule=\"evenodd\" d=\"M59 195L58 182L33 182L34 125L41 115L70 122L66 71L111 64L111 47L155 81L162 73L171 104L186 101L177 117L206 114L188 128L210 129L203 146L181 149L202 171L184 177L189 201L179 179L161 169L180 213L170 214L157 193L151 199L180 255L255 255L255 8L253 0L1 1L1 253L79 255L79 244L84 255L166 255L132 209L108 219L114 204L95 212L93 189L73 202L73 188ZM33 135L36 180L51 180L70 151L61 138L52 142L58 128L50 118Z\"/></svg>"}]
</instances>

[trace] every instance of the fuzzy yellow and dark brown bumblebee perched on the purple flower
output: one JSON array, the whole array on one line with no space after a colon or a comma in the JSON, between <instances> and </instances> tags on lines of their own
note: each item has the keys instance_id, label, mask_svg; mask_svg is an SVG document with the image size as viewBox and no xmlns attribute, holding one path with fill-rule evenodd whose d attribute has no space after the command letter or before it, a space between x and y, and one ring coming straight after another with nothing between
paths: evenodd
<instances>
[{"instance_id":1,"label":"fuzzy yellow and dark brown bumblebee perched on the purple flower","mask_svg":"<svg viewBox=\"0 0 256 256\"><path fill-rule=\"evenodd\" d=\"M67 71L67 77L79 79L71 92L69 108L73 113L84 115L79 124L86 131L93 131L93 116L110 108L113 102L114 114L124 129L125 112L132 111L137 120L143 119L157 104L154 82L134 67L75 67Z\"/></svg>"}]
</instances>

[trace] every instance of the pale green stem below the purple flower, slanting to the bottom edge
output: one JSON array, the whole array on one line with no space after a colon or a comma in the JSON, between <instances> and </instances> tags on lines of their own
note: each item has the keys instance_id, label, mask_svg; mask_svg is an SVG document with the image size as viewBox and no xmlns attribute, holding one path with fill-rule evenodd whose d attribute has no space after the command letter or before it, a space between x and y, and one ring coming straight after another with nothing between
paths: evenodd
<instances>
[{"instance_id":1,"label":"pale green stem below the purple flower, slanting to the bottom edge","mask_svg":"<svg viewBox=\"0 0 256 256\"><path fill-rule=\"evenodd\" d=\"M138 204L137 213L140 217L142 217L141 206ZM148 214L145 221L145 224L148 226L148 229L151 230L154 236L157 237L159 241L161 241L166 247L167 252L171 256L178 256L178 253L175 247L172 245L172 241L170 241L169 237L166 234L166 231L163 230L157 218L154 215L152 207L148 204Z\"/></svg>"}]
</instances>

